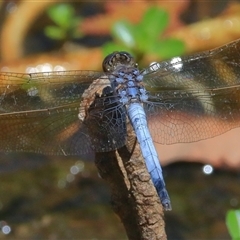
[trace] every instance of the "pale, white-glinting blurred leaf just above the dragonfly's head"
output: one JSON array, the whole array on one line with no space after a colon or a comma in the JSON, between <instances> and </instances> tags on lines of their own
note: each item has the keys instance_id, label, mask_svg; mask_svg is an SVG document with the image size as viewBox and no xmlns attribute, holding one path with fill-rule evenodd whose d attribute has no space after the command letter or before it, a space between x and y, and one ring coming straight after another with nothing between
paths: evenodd
<instances>
[{"instance_id":1,"label":"pale, white-glinting blurred leaf just above the dragonfly's head","mask_svg":"<svg viewBox=\"0 0 240 240\"><path fill-rule=\"evenodd\" d=\"M136 46L134 27L127 21L119 21L113 25L113 36L128 48Z\"/></svg>"}]
</instances>

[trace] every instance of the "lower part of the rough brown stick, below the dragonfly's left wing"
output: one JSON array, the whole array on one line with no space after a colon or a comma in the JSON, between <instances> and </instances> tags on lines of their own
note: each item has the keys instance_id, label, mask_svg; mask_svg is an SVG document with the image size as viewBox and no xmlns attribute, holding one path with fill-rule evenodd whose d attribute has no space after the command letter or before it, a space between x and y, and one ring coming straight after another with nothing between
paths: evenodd
<instances>
[{"instance_id":1,"label":"lower part of the rough brown stick, below the dragonfly's left wing","mask_svg":"<svg viewBox=\"0 0 240 240\"><path fill-rule=\"evenodd\" d=\"M147 172L138 144L133 154L118 151L96 153L95 164L111 188L112 206L129 239L167 239L163 208Z\"/></svg>"}]
</instances>

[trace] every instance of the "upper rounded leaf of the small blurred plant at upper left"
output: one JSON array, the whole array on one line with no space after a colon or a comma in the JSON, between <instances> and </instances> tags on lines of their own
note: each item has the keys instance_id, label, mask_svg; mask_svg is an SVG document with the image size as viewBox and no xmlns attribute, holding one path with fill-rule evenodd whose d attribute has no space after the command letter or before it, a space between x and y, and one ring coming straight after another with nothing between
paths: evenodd
<instances>
[{"instance_id":1,"label":"upper rounded leaf of the small blurred plant at upper left","mask_svg":"<svg viewBox=\"0 0 240 240\"><path fill-rule=\"evenodd\" d=\"M68 28L74 17L74 8L70 4L57 4L48 9L49 17L62 28Z\"/></svg>"}]
</instances>

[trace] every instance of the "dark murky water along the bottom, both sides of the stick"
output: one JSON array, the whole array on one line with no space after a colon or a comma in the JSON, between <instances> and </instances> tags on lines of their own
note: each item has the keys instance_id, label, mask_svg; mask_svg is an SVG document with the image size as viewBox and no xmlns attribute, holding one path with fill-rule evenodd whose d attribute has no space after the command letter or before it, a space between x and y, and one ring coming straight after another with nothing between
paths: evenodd
<instances>
[{"instance_id":1,"label":"dark murky water along the bottom, both sides of the stick","mask_svg":"<svg viewBox=\"0 0 240 240\"><path fill-rule=\"evenodd\" d=\"M9 165L27 159L6 157ZM40 164L40 158L33 154L29 168L1 169L0 239L127 239L92 162L42 157ZM204 174L203 167L178 163L164 169L173 205L165 213L168 239L229 239L225 214L240 207L240 172Z\"/></svg>"}]
</instances>

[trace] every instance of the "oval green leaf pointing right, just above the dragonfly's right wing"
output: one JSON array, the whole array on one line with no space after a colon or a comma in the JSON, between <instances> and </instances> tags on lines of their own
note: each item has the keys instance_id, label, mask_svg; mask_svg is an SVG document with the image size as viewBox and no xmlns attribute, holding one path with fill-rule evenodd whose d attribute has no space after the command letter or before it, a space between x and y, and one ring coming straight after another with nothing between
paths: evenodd
<instances>
[{"instance_id":1,"label":"oval green leaf pointing right, just above the dragonfly's right wing","mask_svg":"<svg viewBox=\"0 0 240 240\"><path fill-rule=\"evenodd\" d=\"M164 39L159 42L155 42L149 52L157 54L161 58L171 58L182 55L185 51L184 42L178 39Z\"/></svg>"}]
</instances>

